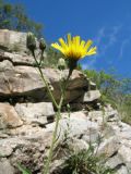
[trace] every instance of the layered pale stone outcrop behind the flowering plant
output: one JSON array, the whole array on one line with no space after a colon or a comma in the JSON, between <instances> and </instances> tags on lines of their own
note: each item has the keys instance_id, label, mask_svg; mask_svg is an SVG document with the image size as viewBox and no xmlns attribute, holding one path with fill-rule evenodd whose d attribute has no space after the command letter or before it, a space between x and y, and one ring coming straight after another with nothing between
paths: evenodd
<instances>
[{"instance_id":1,"label":"layered pale stone outcrop behind the flowering plant","mask_svg":"<svg viewBox=\"0 0 131 174\"><path fill-rule=\"evenodd\" d=\"M25 38L23 33L0 30L0 174L20 174L17 163L41 174L55 128L56 109L26 50ZM21 51L14 50L15 45ZM60 71L43 69L43 73L59 101ZM67 75L68 70L62 76ZM79 71L69 80L66 103L70 103L71 113L63 105L57 148L66 139L74 151L86 150L92 142L96 156L104 153L105 165L116 169L116 174L131 173L131 126L120 121L110 104L100 104L96 85ZM68 158L64 150L55 157L51 174L60 173Z\"/></svg>"}]
</instances>

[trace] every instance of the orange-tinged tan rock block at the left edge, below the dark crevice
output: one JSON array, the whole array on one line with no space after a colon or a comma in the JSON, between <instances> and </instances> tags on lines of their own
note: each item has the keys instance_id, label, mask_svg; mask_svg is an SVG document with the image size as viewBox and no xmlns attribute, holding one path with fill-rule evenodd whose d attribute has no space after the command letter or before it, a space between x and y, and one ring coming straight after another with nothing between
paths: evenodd
<instances>
[{"instance_id":1,"label":"orange-tinged tan rock block at the left edge, below the dark crevice","mask_svg":"<svg viewBox=\"0 0 131 174\"><path fill-rule=\"evenodd\" d=\"M19 127L23 124L14 108L7 103L0 103L0 129Z\"/></svg>"}]
</instances>

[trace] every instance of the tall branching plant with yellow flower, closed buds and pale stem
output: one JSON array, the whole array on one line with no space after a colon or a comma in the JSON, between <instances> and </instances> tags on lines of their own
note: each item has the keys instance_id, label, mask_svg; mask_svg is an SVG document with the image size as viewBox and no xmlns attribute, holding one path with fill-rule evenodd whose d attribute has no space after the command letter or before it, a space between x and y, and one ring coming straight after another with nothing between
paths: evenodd
<instances>
[{"instance_id":1,"label":"tall branching plant with yellow flower, closed buds and pale stem","mask_svg":"<svg viewBox=\"0 0 131 174\"><path fill-rule=\"evenodd\" d=\"M71 35L68 34L68 39L64 41L62 38L59 39L59 44L52 44L51 47L56 48L57 50L59 50L64 58L67 58L68 60L68 66L69 66L69 73L66 79L61 78L60 79L60 91L61 91L61 97L59 102L56 101L52 91L50 89L50 86L45 77L45 75L43 74L41 71L41 63L44 61L44 50L46 48L44 39L40 39L39 41L39 49L41 51L40 54L40 61L37 60L35 50L36 50L36 38L32 33L28 33L27 35L27 39L26 39L26 45L27 48L31 50L33 58L36 62L36 67L38 70L39 76L41 77L41 80L44 83L44 86L46 86L47 91L48 91L48 96L50 97L52 104L55 105L57 113L56 113L56 125L55 125L55 130L52 133L52 140L51 140L51 145L50 145L50 149L49 149L49 154L46 161L46 165L44 167L44 174L49 174L49 169L50 169L50 163L52 160L52 153L53 153L53 149L55 149L55 145L57 141L57 133L58 133L58 126L59 126L59 121L61 119L61 108L64 101L64 97L66 97L66 90L68 87L68 83L69 79L72 75L72 72L74 69L76 69L78 65L78 61L86 55L92 55L96 53L96 47L92 47L93 41L92 40L87 40L87 42L85 42L84 40L81 40L80 36L75 36L71 38ZM62 72L64 69L64 60L60 60L59 61L59 70ZM61 74L61 73L60 73Z\"/></svg>"}]
</instances>

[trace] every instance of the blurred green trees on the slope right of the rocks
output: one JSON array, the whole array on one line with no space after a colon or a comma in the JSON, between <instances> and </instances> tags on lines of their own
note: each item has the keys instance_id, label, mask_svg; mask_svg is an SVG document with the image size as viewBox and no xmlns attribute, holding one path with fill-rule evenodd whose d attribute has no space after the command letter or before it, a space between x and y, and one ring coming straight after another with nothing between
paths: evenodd
<instances>
[{"instance_id":1,"label":"blurred green trees on the slope right of the rocks","mask_svg":"<svg viewBox=\"0 0 131 174\"><path fill-rule=\"evenodd\" d=\"M111 103L119 111L121 120L131 124L131 78L94 70L85 70L84 74L100 89L102 101Z\"/></svg>"}]
</instances>

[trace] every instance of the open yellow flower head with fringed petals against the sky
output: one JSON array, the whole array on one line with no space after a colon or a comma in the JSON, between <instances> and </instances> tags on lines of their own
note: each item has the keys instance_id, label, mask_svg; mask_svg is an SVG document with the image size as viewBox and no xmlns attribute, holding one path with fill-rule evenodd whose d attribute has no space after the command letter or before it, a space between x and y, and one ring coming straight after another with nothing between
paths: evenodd
<instances>
[{"instance_id":1,"label":"open yellow flower head with fringed petals against the sky","mask_svg":"<svg viewBox=\"0 0 131 174\"><path fill-rule=\"evenodd\" d=\"M61 51L66 58L80 60L86 55L92 55L96 53L96 47L92 47L93 41L81 40L80 36L74 36L71 38L71 35L68 34L68 39L64 41L62 38L59 39L59 42L51 44L51 47Z\"/></svg>"}]
</instances>

